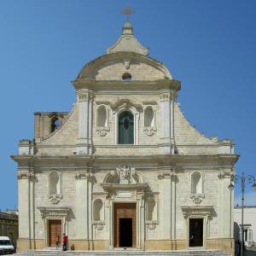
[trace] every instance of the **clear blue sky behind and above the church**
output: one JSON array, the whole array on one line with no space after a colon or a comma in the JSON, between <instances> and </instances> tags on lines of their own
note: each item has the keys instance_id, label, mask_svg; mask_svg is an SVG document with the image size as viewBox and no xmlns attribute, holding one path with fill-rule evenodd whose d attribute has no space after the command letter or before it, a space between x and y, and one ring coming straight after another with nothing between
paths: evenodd
<instances>
[{"instance_id":1,"label":"clear blue sky behind and above the church","mask_svg":"<svg viewBox=\"0 0 256 256\"><path fill-rule=\"evenodd\" d=\"M119 38L127 5L137 39L182 82L178 102L191 124L233 139L236 172L256 176L256 1L1 0L0 209L17 206L9 155L33 137L33 113L71 110L70 81ZM256 205L249 185L246 204Z\"/></svg>"}]
</instances>

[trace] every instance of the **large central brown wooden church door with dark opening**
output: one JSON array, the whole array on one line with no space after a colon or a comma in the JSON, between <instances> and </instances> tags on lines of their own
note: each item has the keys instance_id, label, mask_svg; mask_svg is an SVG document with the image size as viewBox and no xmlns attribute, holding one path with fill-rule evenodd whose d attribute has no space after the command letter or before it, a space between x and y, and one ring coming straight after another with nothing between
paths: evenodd
<instances>
[{"instance_id":1,"label":"large central brown wooden church door with dark opening","mask_svg":"<svg viewBox=\"0 0 256 256\"><path fill-rule=\"evenodd\" d=\"M114 247L137 246L136 203L114 204Z\"/></svg>"}]
</instances>

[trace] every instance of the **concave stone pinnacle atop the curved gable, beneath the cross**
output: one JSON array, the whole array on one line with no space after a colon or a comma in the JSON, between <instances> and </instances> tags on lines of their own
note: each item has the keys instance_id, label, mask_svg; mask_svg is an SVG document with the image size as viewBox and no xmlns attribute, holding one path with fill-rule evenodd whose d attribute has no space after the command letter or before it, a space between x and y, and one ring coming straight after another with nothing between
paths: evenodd
<instances>
[{"instance_id":1,"label":"concave stone pinnacle atop the curved gable, beneath the cross","mask_svg":"<svg viewBox=\"0 0 256 256\"><path fill-rule=\"evenodd\" d=\"M140 44L133 35L133 28L129 21L125 22L123 26L123 33L113 46L110 46L107 50L108 54L116 52L136 52L141 55L148 55L148 48Z\"/></svg>"}]
</instances>

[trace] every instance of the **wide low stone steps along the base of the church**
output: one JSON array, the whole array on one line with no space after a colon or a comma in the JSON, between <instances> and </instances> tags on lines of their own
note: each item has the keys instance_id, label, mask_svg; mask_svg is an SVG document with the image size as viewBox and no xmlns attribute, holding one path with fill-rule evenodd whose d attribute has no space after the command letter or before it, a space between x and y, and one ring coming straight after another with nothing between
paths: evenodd
<instances>
[{"instance_id":1,"label":"wide low stone steps along the base of the church","mask_svg":"<svg viewBox=\"0 0 256 256\"><path fill-rule=\"evenodd\" d=\"M113 251L66 251L59 250L30 250L16 253L17 256L230 256L220 250L187 250L187 251L138 251L138 250L113 250Z\"/></svg>"}]
</instances>

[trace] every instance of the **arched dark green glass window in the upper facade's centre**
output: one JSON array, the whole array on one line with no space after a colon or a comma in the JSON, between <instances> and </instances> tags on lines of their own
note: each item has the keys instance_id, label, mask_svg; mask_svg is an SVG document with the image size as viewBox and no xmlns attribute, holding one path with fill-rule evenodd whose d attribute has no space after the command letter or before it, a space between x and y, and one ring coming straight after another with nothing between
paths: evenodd
<instances>
[{"instance_id":1,"label":"arched dark green glass window in the upper facade's centre","mask_svg":"<svg viewBox=\"0 0 256 256\"><path fill-rule=\"evenodd\" d=\"M119 114L119 144L134 143L134 118L129 111Z\"/></svg>"}]
</instances>

